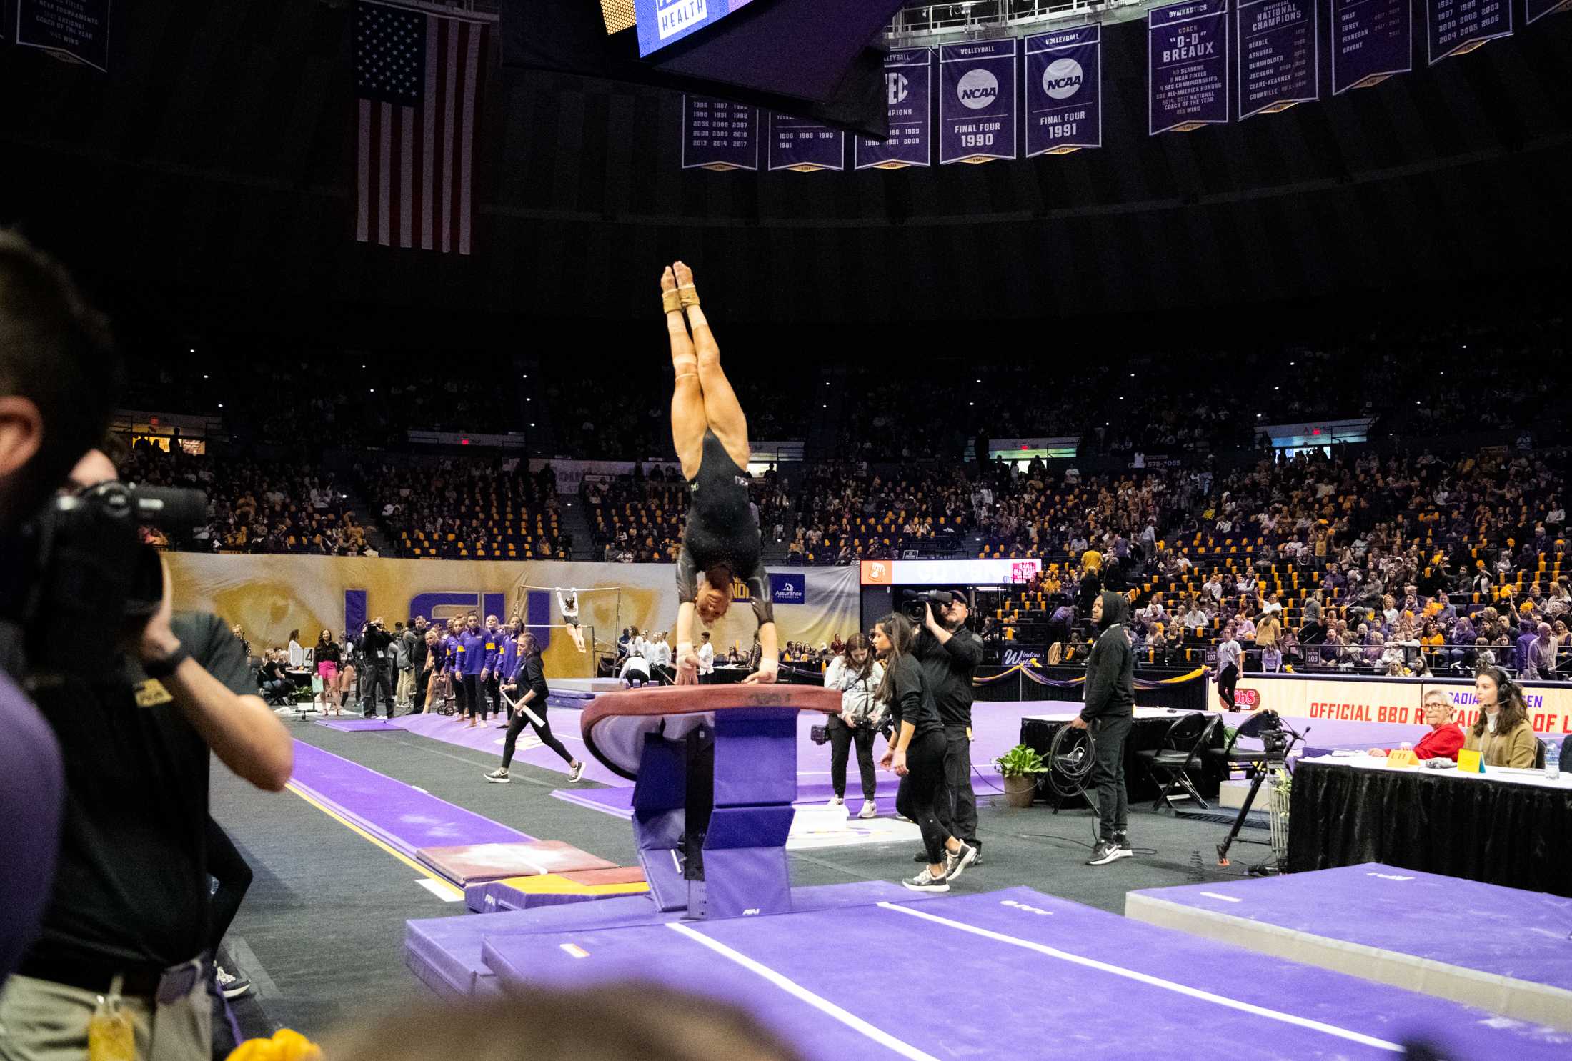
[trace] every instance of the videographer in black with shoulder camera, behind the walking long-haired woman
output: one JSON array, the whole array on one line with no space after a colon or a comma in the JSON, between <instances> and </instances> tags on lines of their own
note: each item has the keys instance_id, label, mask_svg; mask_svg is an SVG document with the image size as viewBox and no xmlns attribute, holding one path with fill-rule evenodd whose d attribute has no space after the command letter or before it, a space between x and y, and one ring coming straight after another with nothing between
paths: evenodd
<instances>
[{"instance_id":1,"label":"videographer in black with shoulder camera, behind the walking long-haired woman","mask_svg":"<svg viewBox=\"0 0 1572 1061\"><path fill-rule=\"evenodd\" d=\"M982 662L982 640L967 629L971 607L965 591L937 589L916 600L923 604L923 624L912 641L912 655L923 665L923 679L934 690L938 720L945 725L945 780L934 797L938 824L976 849L971 865L978 866L982 843L978 839L978 797L971 791L971 674Z\"/></svg>"}]
</instances>

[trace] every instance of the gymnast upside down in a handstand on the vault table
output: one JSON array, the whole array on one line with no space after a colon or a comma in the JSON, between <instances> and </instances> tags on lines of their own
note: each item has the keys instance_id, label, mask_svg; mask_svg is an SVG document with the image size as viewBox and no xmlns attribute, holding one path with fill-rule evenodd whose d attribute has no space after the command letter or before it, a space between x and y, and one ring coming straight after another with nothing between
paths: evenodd
<instances>
[{"instance_id":1,"label":"gymnast upside down in a handstand on the vault table","mask_svg":"<svg viewBox=\"0 0 1572 1061\"><path fill-rule=\"evenodd\" d=\"M689 484L678 553L678 685L698 684L693 618L711 626L726 615L734 578L748 586L762 651L759 670L742 681L773 682L780 644L759 525L748 508L748 420L720 368L720 347L698 305L693 272L681 261L660 274L660 302L676 373L671 442Z\"/></svg>"}]
</instances>

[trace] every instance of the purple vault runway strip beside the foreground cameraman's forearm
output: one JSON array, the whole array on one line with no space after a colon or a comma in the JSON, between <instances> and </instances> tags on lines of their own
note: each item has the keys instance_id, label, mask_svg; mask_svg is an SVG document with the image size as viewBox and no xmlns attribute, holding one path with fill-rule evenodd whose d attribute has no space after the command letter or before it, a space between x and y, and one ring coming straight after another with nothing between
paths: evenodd
<instances>
[{"instance_id":1,"label":"purple vault runway strip beside the foreground cameraman's forearm","mask_svg":"<svg viewBox=\"0 0 1572 1061\"><path fill-rule=\"evenodd\" d=\"M421 847L534 839L332 751L302 740L294 745L291 784L410 858Z\"/></svg>"}]
</instances>

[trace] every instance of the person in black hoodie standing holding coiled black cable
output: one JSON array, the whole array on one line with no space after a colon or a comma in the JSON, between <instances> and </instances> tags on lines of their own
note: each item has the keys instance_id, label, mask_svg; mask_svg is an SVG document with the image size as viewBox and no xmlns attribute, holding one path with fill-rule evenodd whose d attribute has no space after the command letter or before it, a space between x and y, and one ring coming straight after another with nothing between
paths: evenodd
<instances>
[{"instance_id":1,"label":"person in black hoodie standing holding coiled black cable","mask_svg":"<svg viewBox=\"0 0 1572 1061\"><path fill-rule=\"evenodd\" d=\"M1116 858L1129 858L1129 800L1124 789L1124 740L1135 723L1135 652L1124 627L1130 602L1121 593L1102 593L1091 605L1091 619L1102 635L1086 662L1086 703L1071 721L1078 729L1091 728L1097 742L1097 765L1091 772L1091 787L1097 805L1097 847L1088 866L1107 866Z\"/></svg>"}]
</instances>

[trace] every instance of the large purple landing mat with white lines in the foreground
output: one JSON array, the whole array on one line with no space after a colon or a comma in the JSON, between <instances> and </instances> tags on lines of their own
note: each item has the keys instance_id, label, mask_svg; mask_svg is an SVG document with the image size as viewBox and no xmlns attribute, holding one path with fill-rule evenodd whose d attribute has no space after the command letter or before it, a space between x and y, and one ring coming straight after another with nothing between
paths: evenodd
<instances>
[{"instance_id":1,"label":"large purple landing mat with white lines in the foreground","mask_svg":"<svg viewBox=\"0 0 1572 1061\"><path fill-rule=\"evenodd\" d=\"M1457 1058L1564 1061L1572 1048L1572 1036L1030 888L583 926L490 938L484 953L503 984L638 976L740 1003L810 1061L1036 1058L1047 1041L1077 1058L1174 1056L1174 1044L1185 1044L1184 1056L1390 1058L1407 1036ZM942 976L916 979L894 1008L885 993L855 987L890 970Z\"/></svg>"}]
</instances>

